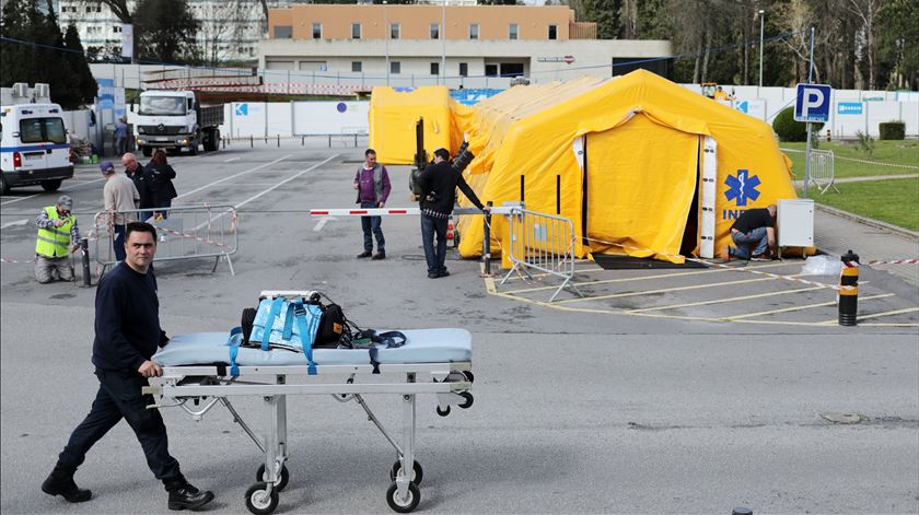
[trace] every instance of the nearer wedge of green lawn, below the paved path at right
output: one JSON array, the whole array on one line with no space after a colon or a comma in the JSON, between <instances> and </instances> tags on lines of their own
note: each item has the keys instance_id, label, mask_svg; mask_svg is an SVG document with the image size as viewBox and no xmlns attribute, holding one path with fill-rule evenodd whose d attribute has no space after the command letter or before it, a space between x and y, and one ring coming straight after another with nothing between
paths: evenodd
<instances>
[{"instance_id":1,"label":"nearer wedge of green lawn, below the paved path at right","mask_svg":"<svg viewBox=\"0 0 919 515\"><path fill-rule=\"evenodd\" d=\"M811 198L837 209L919 231L919 177L865 180L836 185L824 195L811 188ZM803 189L798 190L803 196Z\"/></svg>"}]
</instances>

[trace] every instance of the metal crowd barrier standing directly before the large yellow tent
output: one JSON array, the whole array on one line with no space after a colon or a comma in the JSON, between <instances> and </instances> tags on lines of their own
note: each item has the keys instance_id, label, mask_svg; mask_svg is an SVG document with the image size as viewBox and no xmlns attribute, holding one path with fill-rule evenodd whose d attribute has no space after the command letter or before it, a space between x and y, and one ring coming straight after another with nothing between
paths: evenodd
<instances>
[{"instance_id":1,"label":"metal crowd barrier standing directly before the large yellow tent","mask_svg":"<svg viewBox=\"0 0 919 515\"><path fill-rule=\"evenodd\" d=\"M549 302L555 301L566 286L573 290L578 296L584 296L571 282L574 277L574 224L570 219L511 208L508 225L510 245L505 250L513 266L501 280L501 284L515 270L532 278L526 270L531 268L563 280Z\"/></svg>"}]
</instances>

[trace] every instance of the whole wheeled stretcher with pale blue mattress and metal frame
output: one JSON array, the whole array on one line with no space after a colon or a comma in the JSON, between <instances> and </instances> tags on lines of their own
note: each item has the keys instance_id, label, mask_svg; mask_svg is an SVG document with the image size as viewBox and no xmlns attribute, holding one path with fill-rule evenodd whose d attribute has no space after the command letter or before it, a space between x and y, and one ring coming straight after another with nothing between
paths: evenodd
<instances>
[{"instance_id":1,"label":"whole wheeled stretcher with pale blue mattress and metal frame","mask_svg":"<svg viewBox=\"0 0 919 515\"><path fill-rule=\"evenodd\" d=\"M312 292L263 292L263 299L307 296ZM394 349L377 349L371 363L367 349L314 349L316 374L307 374L303 353L287 350L237 349L239 375L229 366L228 335L197 332L174 337L153 356L163 367L159 384L144 388L154 403L150 408L181 407L195 420L218 403L223 405L243 431L265 453L256 471L256 482L246 491L246 507L254 514L277 508L279 492L287 487L289 472L287 438L287 397L329 394L340 402L356 401L396 452L389 470L392 484L386 503L396 512L414 511L421 500L421 465L415 459L416 396L437 394L437 412L450 414L450 407L469 408L472 337L464 329L405 330L406 342ZM293 381L298 384L293 384ZM334 379L338 379L334 382ZM403 402L400 444L386 431L363 396L393 394ZM264 438L257 436L230 397L261 397L270 411Z\"/></svg>"}]
</instances>

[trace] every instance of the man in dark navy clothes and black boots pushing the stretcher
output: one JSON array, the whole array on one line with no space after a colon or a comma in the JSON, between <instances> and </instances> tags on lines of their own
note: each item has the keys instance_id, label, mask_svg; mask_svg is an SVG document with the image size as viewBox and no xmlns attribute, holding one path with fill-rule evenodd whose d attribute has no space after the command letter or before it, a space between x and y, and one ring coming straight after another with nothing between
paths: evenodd
<instances>
[{"instance_id":1,"label":"man in dark navy clothes and black boots pushing the stretcher","mask_svg":"<svg viewBox=\"0 0 919 515\"><path fill-rule=\"evenodd\" d=\"M160 328L156 278L150 264L156 253L156 230L142 222L127 227L127 258L98 283L95 296L95 341L92 362L98 391L90 414L73 430L42 491L71 503L89 501L92 492L77 487L73 475L86 453L123 418L133 430L147 465L168 492L170 510L197 510L213 500L185 479L170 455L166 426L159 410L141 389L163 370L151 361L158 347L168 343Z\"/></svg>"}]
</instances>

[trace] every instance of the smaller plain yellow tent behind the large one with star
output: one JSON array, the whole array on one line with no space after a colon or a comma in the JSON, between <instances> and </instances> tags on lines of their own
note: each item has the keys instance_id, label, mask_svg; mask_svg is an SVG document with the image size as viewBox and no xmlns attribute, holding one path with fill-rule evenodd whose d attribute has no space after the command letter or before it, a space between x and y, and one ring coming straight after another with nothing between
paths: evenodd
<instances>
[{"instance_id":1,"label":"smaller plain yellow tent behind the large one with star","mask_svg":"<svg viewBox=\"0 0 919 515\"><path fill-rule=\"evenodd\" d=\"M424 119L424 149L430 156L444 148L456 152L463 132L454 125L454 109L463 109L446 86L404 91L374 87L370 96L370 148L386 164L411 164L415 160L415 124Z\"/></svg>"}]
</instances>

